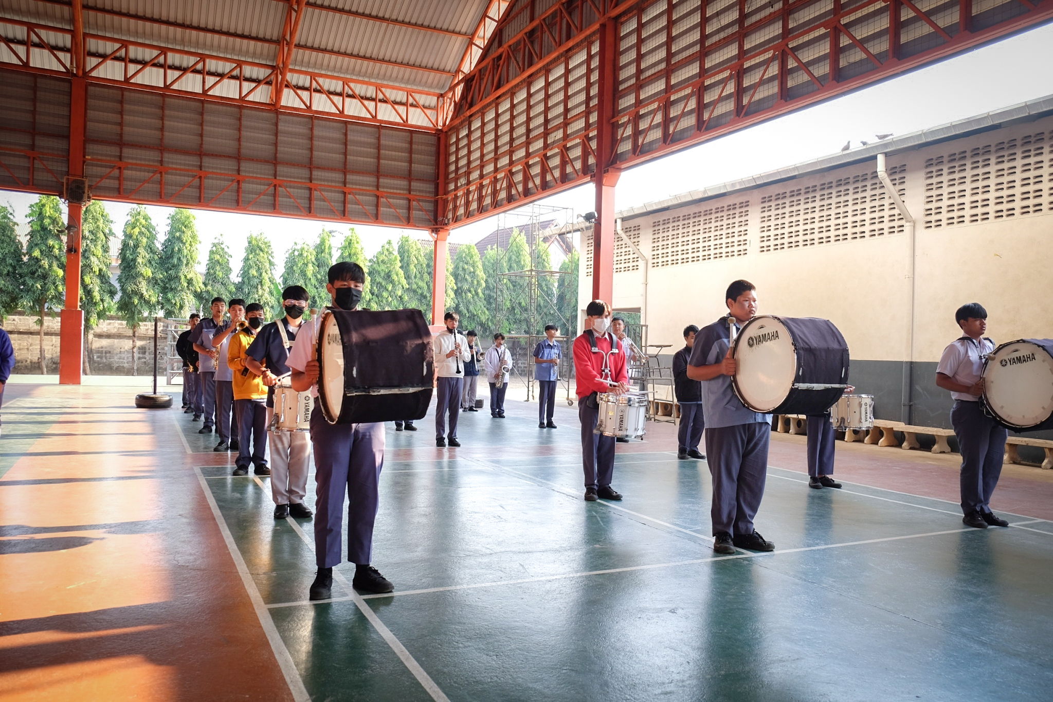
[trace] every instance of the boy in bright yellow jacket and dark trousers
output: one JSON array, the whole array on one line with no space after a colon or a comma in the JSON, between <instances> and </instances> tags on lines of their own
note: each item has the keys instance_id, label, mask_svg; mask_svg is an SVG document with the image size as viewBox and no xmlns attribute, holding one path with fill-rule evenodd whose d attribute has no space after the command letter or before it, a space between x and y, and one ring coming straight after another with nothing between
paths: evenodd
<instances>
[{"instance_id":1,"label":"boy in bright yellow jacket and dark trousers","mask_svg":"<svg viewBox=\"0 0 1053 702\"><path fill-rule=\"evenodd\" d=\"M256 329L263 324L263 305L253 302L245 307L245 324L231 337L226 364L234 373L234 406L238 417L238 458L234 475L249 475L249 464L257 476L271 475L263 452L266 447L266 385L261 375L245 365L249 345Z\"/></svg>"}]
</instances>

